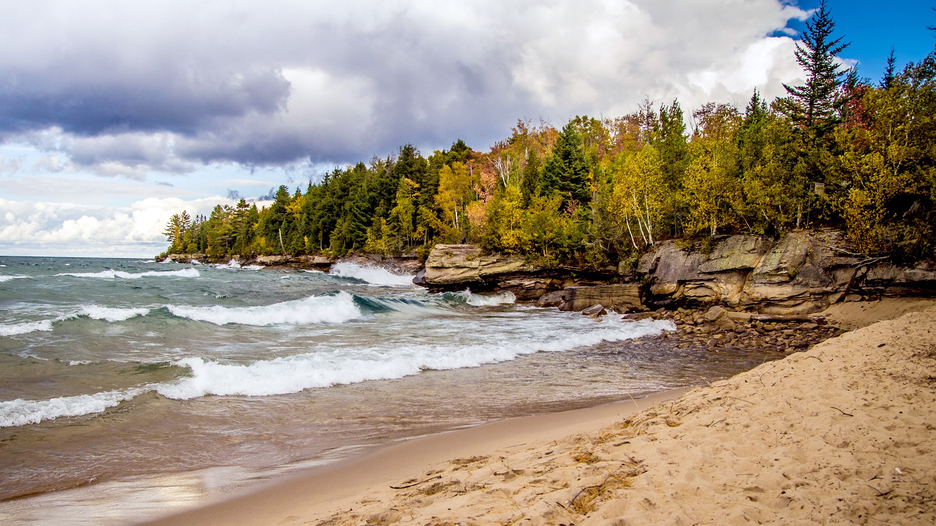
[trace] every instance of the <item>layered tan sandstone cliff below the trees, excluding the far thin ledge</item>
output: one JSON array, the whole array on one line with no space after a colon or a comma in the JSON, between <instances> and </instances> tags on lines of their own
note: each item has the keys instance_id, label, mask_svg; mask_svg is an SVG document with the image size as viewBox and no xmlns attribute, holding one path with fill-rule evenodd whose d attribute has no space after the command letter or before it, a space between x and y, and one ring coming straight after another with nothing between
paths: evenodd
<instances>
[{"instance_id":1,"label":"layered tan sandstone cliff below the trees, excluding the far thin ledge","mask_svg":"<svg viewBox=\"0 0 936 526\"><path fill-rule=\"evenodd\" d=\"M621 295L610 288L566 288L626 282L632 285ZM708 253L664 241L636 269L620 273L538 269L519 258L483 255L474 245L437 245L417 283L432 290L511 290L519 300L541 298L539 304L567 310L581 310L592 300L607 306L639 305L642 299L651 306L724 304L765 314L811 314L841 300L936 296L936 265L898 267L856 255L840 230L828 229L791 232L776 241L731 236L715 241Z\"/></svg>"}]
</instances>

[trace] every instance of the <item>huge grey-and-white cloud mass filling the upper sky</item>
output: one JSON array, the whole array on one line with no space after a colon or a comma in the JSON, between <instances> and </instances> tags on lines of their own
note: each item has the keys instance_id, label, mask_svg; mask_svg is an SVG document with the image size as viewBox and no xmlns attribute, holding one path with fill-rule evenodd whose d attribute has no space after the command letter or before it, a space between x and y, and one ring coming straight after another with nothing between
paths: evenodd
<instances>
[{"instance_id":1,"label":"huge grey-and-white cloud mass filling the upper sky","mask_svg":"<svg viewBox=\"0 0 936 526\"><path fill-rule=\"evenodd\" d=\"M645 95L780 95L802 72L770 36L805 16L782 0L44 6L0 18L0 139L136 179L478 148L519 117L617 115Z\"/></svg>"}]
</instances>

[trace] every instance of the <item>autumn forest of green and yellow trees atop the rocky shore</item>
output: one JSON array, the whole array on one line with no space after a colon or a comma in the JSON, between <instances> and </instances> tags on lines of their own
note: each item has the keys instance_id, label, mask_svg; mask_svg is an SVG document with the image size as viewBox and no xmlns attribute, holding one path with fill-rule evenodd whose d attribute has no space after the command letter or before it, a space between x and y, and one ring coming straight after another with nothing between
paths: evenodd
<instances>
[{"instance_id":1,"label":"autumn forest of green and yellow trees atop the rocky shore","mask_svg":"<svg viewBox=\"0 0 936 526\"><path fill-rule=\"evenodd\" d=\"M334 168L304 192L173 215L167 253L426 256L470 242L540 265L635 261L655 242L844 228L851 250L936 254L936 50L880 80L845 69L825 6L796 58L807 78L743 109L645 99L633 113L557 129L519 120L487 152L461 139L423 156ZM269 204L268 204L269 203Z\"/></svg>"}]
</instances>

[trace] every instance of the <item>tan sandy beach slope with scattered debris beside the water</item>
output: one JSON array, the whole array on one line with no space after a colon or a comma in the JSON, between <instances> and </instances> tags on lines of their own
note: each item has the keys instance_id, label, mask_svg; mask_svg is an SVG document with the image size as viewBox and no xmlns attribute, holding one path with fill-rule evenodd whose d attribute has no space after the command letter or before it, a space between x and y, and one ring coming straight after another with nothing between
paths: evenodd
<instances>
[{"instance_id":1,"label":"tan sandy beach slope with scattered debris beside the water","mask_svg":"<svg viewBox=\"0 0 936 526\"><path fill-rule=\"evenodd\" d=\"M936 522L936 308L677 394L407 441L156 523Z\"/></svg>"}]
</instances>

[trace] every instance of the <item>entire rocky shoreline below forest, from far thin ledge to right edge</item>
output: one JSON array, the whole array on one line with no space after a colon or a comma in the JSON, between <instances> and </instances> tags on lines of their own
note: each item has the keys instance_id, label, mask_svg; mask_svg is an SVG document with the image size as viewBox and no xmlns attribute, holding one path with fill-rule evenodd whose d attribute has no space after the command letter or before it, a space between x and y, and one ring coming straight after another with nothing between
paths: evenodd
<instances>
[{"instance_id":1,"label":"entire rocky shoreline below forest, from far thin ledge to right edge","mask_svg":"<svg viewBox=\"0 0 936 526\"><path fill-rule=\"evenodd\" d=\"M898 264L882 257L863 256L836 229L793 231L777 240L746 234L721 236L707 244L662 241L636 260L587 269L537 267L522 257L488 254L470 244L435 245L425 261L415 255L370 254L342 258L175 254L164 259L183 263L232 261L241 266L296 270L328 270L338 261L350 261L416 274L413 283L431 292L466 288L482 293L510 291L519 301L534 301L537 306L563 311L584 311L595 305L621 314L662 308L661 316L669 313L676 320L680 314L679 319L690 326L695 324L695 314L686 319L686 313L679 309L706 311L718 305L730 312L803 315L843 302L936 297L936 262ZM739 315L731 315L738 321ZM757 325L746 329L772 332ZM779 330L792 329L784 325ZM796 329L803 326L797 325ZM730 338L724 331L714 335ZM708 340L712 339L722 340ZM777 347L796 343L753 338L757 340Z\"/></svg>"}]
</instances>

